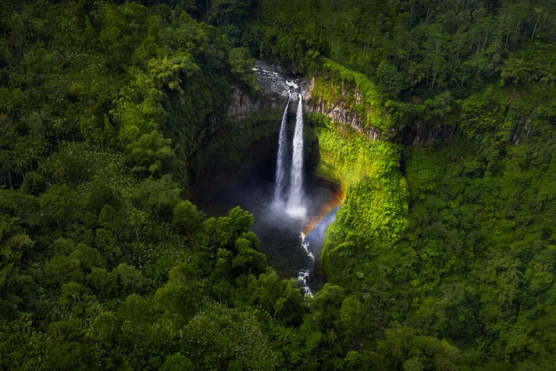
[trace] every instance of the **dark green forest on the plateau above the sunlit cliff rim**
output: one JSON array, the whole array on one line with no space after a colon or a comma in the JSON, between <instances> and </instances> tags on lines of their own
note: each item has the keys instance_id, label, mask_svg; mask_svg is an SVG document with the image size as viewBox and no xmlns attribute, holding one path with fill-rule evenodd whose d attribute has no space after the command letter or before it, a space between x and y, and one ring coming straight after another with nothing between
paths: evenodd
<instances>
[{"instance_id":1,"label":"dark green forest on the plateau above the sunlit cliff rim","mask_svg":"<svg viewBox=\"0 0 556 371\"><path fill-rule=\"evenodd\" d=\"M258 38L245 40L260 40L263 55L304 68L326 55L393 97L459 95L496 79L512 51L556 36L553 3L540 0L263 0L259 9Z\"/></svg>"}]
</instances>

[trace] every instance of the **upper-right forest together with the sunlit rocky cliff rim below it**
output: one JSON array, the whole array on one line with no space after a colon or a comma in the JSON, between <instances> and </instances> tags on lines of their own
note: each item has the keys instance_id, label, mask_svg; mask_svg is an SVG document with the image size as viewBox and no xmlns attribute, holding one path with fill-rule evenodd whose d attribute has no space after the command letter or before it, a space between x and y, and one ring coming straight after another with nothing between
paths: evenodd
<instances>
[{"instance_id":1,"label":"upper-right forest together with the sunlit rocky cliff rim below it","mask_svg":"<svg viewBox=\"0 0 556 371\"><path fill-rule=\"evenodd\" d=\"M451 121L458 99L500 76L550 85L554 19L541 0L261 0L243 44L314 76L316 101L391 139L419 120Z\"/></svg>"}]
</instances>

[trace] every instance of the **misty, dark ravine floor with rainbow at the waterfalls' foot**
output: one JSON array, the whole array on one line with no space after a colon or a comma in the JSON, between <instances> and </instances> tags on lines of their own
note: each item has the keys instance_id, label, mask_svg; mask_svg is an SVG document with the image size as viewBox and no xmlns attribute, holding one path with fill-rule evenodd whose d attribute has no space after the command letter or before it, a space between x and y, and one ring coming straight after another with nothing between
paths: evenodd
<instances>
[{"instance_id":1,"label":"misty, dark ravine floor with rainbow at the waterfalls' foot","mask_svg":"<svg viewBox=\"0 0 556 371\"><path fill-rule=\"evenodd\" d=\"M338 185L317 178L311 172L304 174L304 188L306 217L289 217L285 209L274 202L275 159L272 159L255 167L248 176L230 173L218 176L211 189L204 192L202 204L210 216L227 215L234 206L253 213L252 230L261 240L261 249L270 265L284 278L297 279L301 271L310 270L306 280L315 292L323 284L318 265L326 229L334 221L331 216L335 212L331 211L342 197L338 196L341 195ZM306 241L315 261L302 247L302 231L307 235Z\"/></svg>"}]
</instances>

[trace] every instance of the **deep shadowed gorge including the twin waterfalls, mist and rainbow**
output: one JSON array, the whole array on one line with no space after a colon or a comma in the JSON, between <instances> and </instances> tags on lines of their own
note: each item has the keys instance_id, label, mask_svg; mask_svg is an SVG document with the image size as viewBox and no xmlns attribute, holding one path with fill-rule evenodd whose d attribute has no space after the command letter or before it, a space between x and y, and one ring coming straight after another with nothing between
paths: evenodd
<instances>
[{"instance_id":1,"label":"deep shadowed gorge including the twin waterfalls, mist and rainbow","mask_svg":"<svg viewBox=\"0 0 556 371\"><path fill-rule=\"evenodd\" d=\"M260 107L251 108L259 107L259 113L264 113L270 105L276 118L239 117L243 126L234 124L225 134L213 135L213 145L206 145L213 151L202 154L199 164L196 201L209 216L226 215L234 206L253 213L252 230L270 265L281 277L297 279L304 293L311 295L322 286L320 252L343 193L337 184L313 174L319 161L318 142L311 136L313 129L304 127L302 81L268 64L259 63L254 71L268 100L261 97ZM275 106L282 99L278 113ZM248 108L242 107L231 112ZM248 132L254 131L265 134L246 141ZM220 142L222 138L235 139ZM234 147L239 142L242 147ZM223 154L230 150L239 161L227 165L231 162Z\"/></svg>"}]
</instances>

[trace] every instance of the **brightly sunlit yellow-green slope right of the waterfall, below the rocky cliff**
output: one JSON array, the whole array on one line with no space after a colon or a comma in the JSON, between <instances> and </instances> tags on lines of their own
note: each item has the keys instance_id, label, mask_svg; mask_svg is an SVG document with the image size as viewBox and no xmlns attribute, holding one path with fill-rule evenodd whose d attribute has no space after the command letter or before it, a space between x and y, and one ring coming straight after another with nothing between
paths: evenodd
<instances>
[{"instance_id":1,"label":"brightly sunlit yellow-green slope right of the waterfall, below the rocky cliff","mask_svg":"<svg viewBox=\"0 0 556 371\"><path fill-rule=\"evenodd\" d=\"M336 179L345 202L328 231L322 266L331 281L353 277L345 265L352 249L375 253L390 249L407 227L407 183L399 171L400 145L371 141L320 115L316 124L321 176ZM357 247L356 247L357 245Z\"/></svg>"}]
</instances>

